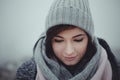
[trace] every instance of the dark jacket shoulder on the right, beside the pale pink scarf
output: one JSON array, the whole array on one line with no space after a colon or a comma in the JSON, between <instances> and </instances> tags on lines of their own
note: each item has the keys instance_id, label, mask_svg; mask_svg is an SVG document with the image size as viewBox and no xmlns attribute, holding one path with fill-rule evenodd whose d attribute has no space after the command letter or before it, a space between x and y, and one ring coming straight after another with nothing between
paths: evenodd
<instances>
[{"instance_id":1,"label":"dark jacket shoulder on the right, beside the pale pink scarf","mask_svg":"<svg viewBox=\"0 0 120 80\"><path fill-rule=\"evenodd\" d=\"M113 70L113 79L114 80L119 80L119 75L120 75L120 61L118 60L118 58L115 56L116 54L112 52L110 46L108 45L108 43L101 38L98 38L98 41L100 43L100 45L106 50L107 55L108 55L108 59L110 61L112 70ZM117 54L120 56L120 54Z\"/></svg>"}]
</instances>

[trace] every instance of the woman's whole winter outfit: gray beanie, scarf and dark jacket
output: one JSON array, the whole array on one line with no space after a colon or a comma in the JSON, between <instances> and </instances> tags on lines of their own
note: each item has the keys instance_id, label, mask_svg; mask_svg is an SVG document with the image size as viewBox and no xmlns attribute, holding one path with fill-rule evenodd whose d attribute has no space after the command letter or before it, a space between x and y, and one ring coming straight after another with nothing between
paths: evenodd
<instances>
[{"instance_id":1,"label":"woman's whole winter outfit: gray beanie, scarf and dark jacket","mask_svg":"<svg viewBox=\"0 0 120 80\"><path fill-rule=\"evenodd\" d=\"M81 65L78 63L74 74L64 65L59 64L56 58L48 58L45 52L46 32L60 24L72 25L84 30L96 48L95 54L86 63L84 69L81 70ZM104 45L107 45L106 42L98 40L94 35L88 0L55 0L46 17L46 31L35 45L33 59L29 64L27 62L18 69L16 80L119 80L114 55L107 48L109 46ZM29 66L26 68L26 65Z\"/></svg>"}]
</instances>

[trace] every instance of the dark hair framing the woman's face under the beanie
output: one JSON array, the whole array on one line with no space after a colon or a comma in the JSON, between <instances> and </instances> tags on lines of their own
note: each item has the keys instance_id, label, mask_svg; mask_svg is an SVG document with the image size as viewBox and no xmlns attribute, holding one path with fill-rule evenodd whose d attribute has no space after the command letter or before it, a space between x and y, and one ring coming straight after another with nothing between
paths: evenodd
<instances>
[{"instance_id":1,"label":"dark hair framing the woman's face under the beanie","mask_svg":"<svg viewBox=\"0 0 120 80\"><path fill-rule=\"evenodd\" d=\"M57 34L59 34L60 32L62 31L65 31L65 30L70 30L70 29L74 29L76 28L76 26L73 26L73 25L56 25L54 27L51 27L47 32L46 32L46 35L47 35L47 38L46 38L46 44L45 44L45 47L46 47L46 55L49 57L49 58L53 58L55 57L55 54L54 54L54 51L52 49L52 38L54 36L56 36ZM86 32L85 32L86 33ZM96 47L94 46L92 40L91 40L91 37L89 36L88 33L86 33L87 36L88 36L88 45L87 45L87 51L86 51L86 54L83 56L82 60L86 61L85 63L87 63L91 58L92 56L95 54L96 52ZM81 61L82 61L81 60Z\"/></svg>"}]
</instances>

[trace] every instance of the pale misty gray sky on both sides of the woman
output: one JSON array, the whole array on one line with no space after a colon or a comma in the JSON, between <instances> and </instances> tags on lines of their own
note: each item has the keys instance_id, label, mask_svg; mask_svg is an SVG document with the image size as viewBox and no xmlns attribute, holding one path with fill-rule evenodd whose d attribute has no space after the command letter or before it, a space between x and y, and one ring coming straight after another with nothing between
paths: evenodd
<instances>
[{"instance_id":1,"label":"pale misty gray sky on both sides of the woman","mask_svg":"<svg viewBox=\"0 0 120 80\"><path fill-rule=\"evenodd\" d=\"M53 0L0 0L0 64L32 57ZM95 35L120 51L120 0L89 0Z\"/></svg>"}]
</instances>

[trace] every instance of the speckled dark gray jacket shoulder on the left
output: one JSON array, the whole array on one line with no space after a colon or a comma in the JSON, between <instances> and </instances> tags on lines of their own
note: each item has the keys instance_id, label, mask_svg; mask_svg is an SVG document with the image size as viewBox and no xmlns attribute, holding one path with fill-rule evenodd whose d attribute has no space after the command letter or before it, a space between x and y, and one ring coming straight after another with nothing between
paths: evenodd
<instances>
[{"instance_id":1,"label":"speckled dark gray jacket shoulder on the left","mask_svg":"<svg viewBox=\"0 0 120 80\"><path fill-rule=\"evenodd\" d=\"M37 69L33 58L23 63L16 72L16 80L34 80Z\"/></svg>"}]
</instances>

